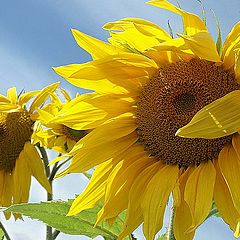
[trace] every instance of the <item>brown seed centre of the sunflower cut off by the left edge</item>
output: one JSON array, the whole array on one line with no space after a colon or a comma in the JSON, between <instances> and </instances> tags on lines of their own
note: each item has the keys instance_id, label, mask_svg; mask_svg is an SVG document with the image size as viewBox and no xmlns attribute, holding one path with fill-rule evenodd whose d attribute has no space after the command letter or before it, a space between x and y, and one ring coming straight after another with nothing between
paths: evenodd
<instances>
[{"instance_id":1,"label":"brown seed centre of the sunflower cut off by the left edge","mask_svg":"<svg viewBox=\"0 0 240 240\"><path fill-rule=\"evenodd\" d=\"M14 169L24 144L31 139L33 123L26 111L0 113L0 170Z\"/></svg>"}]
</instances>

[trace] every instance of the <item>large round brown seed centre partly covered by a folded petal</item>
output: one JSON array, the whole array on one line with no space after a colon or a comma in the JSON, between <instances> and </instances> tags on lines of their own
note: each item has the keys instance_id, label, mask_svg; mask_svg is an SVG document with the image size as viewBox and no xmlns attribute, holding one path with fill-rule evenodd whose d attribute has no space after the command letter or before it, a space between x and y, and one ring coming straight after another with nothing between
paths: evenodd
<instances>
[{"instance_id":1,"label":"large round brown seed centre partly covered by a folded petal","mask_svg":"<svg viewBox=\"0 0 240 240\"><path fill-rule=\"evenodd\" d=\"M216 158L231 136L189 139L175 136L204 106L239 89L234 73L193 59L162 67L143 87L137 103L139 141L151 156L187 167Z\"/></svg>"}]
</instances>

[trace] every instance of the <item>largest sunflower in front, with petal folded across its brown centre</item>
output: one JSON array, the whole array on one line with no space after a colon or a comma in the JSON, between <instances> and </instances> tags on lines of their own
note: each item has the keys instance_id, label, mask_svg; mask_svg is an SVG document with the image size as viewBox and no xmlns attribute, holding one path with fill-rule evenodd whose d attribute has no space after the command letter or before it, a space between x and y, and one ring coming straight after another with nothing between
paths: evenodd
<instances>
[{"instance_id":1,"label":"largest sunflower in front, with petal folded across its brown centre","mask_svg":"<svg viewBox=\"0 0 240 240\"><path fill-rule=\"evenodd\" d=\"M113 222L126 210L119 239L143 223L151 240L172 194L177 240L193 239L213 201L238 237L240 22L221 48L198 16L166 0L148 3L179 14L184 33L173 38L139 18L106 24L110 44L73 30L93 61L55 68L75 86L94 91L52 120L93 129L58 175L96 166L68 215L103 199L97 223Z\"/></svg>"}]
</instances>

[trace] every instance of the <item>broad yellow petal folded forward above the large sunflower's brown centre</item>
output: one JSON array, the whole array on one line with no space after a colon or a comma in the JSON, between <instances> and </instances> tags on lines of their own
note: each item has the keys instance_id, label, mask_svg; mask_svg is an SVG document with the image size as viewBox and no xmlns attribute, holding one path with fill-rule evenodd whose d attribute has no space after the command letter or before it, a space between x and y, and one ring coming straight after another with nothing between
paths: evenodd
<instances>
[{"instance_id":1,"label":"broad yellow petal folded forward above the large sunflower's brown centre","mask_svg":"<svg viewBox=\"0 0 240 240\"><path fill-rule=\"evenodd\" d=\"M198 32L191 36L179 34L179 36L184 39L190 46L192 52L199 58L213 62L221 62L216 44L208 32Z\"/></svg>"}]
</instances>

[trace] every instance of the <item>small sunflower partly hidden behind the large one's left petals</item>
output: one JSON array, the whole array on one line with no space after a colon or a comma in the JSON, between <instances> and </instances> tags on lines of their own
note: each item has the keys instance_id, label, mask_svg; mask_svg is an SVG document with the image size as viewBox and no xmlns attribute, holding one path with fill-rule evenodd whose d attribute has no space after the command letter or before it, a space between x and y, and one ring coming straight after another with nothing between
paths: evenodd
<instances>
[{"instance_id":1,"label":"small sunflower partly hidden behind the large one's left petals","mask_svg":"<svg viewBox=\"0 0 240 240\"><path fill-rule=\"evenodd\" d=\"M49 124L60 111L64 111L64 105L71 100L66 90L61 89L61 92L66 102L63 102L56 95L52 95L51 103L38 110L39 124L33 138L35 140L34 143L39 142L43 147L47 147L59 153L66 153L72 150L76 142L86 135L86 131L75 130L61 123ZM75 102L77 100L78 97L73 101Z\"/></svg>"}]
</instances>

